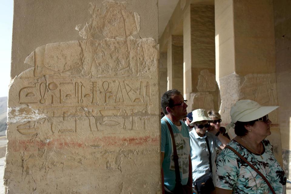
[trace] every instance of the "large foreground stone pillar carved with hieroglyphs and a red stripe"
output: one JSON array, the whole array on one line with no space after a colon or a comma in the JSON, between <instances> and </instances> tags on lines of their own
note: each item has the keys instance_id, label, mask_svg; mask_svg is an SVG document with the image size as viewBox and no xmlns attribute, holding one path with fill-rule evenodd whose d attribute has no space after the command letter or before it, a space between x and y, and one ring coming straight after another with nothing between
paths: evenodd
<instances>
[{"instance_id":1,"label":"large foreground stone pillar carved with hieroglyphs and a red stripe","mask_svg":"<svg viewBox=\"0 0 291 194\"><path fill-rule=\"evenodd\" d=\"M5 193L161 192L157 1L90 2L14 1Z\"/></svg>"}]
</instances>

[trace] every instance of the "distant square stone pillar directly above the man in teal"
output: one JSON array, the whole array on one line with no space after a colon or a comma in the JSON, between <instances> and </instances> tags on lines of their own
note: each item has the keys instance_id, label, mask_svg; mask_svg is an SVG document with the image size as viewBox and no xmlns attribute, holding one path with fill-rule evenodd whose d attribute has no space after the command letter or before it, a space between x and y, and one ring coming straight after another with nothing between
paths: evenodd
<instances>
[{"instance_id":1,"label":"distant square stone pillar directly above the man in teal","mask_svg":"<svg viewBox=\"0 0 291 194\"><path fill-rule=\"evenodd\" d=\"M177 89L183 93L183 36L168 41L168 90Z\"/></svg>"}]
</instances>

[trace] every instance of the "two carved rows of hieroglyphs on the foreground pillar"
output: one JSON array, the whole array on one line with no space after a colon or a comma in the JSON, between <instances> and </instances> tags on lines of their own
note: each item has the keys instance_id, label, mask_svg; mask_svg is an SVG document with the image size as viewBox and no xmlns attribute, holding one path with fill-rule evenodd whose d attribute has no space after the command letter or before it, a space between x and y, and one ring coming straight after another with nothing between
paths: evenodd
<instances>
[{"instance_id":1,"label":"two carved rows of hieroglyphs on the foreground pillar","mask_svg":"<svg viewBox=\"0 0 291 194\"><path fill-rule=\"evenodd\" d=\"M22 82L32 83L30 79ZM44 122L19 125L17 129L22 135L35 135L39 128L47 128L53 134L73 134L78 131L78 125L90 132L115 128L146 130L150 122L152 102L148 81L47 78L46 82L19 88L19 104L25 103L48 116ZM86 107L86 111L80 107ZM135 116L138 112L142 116Z\"/></svg>"}]
</instances>

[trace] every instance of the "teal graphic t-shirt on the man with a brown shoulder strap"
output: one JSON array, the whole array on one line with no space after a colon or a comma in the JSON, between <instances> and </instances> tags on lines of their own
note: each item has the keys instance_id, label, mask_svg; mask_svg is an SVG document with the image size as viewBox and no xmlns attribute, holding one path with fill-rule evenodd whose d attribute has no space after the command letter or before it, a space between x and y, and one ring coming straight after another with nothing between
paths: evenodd
<instances>
[{"instance_id":1,"label":"teal graphic t-shirt on the man with a brown shoulder strap","mask_svg":"<svg viewBox=\"0 0 291 194\"><path fill-rule=\"evenodd\" d=\"M176 125L166 118L173 130L177 155L179 156L179 169L182 185L186 185L189 177L189 154L190 154L190 138L189 130L185 123L182 123L182 130L180 131ZM165 186L169 190L173 190L176 184L175 164L173 160L172 139L165 121L161 120L162 138L161 138L161 152L165 152L162 168L164 171Z\"/></svg>"}]
</instances>

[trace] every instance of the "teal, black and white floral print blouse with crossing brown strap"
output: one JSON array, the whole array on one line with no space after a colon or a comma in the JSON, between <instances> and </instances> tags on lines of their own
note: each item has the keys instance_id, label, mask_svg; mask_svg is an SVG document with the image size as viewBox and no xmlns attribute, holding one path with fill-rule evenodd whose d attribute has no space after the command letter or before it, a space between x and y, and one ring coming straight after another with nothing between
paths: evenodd
<instances>
[{"instance_id":1,"label":"teal, black and white floral print blouse with crossing brown strap","mask_svg":"<svg viewBox=\"0 0 291 194\"><path fill-rule=\"evenodd\" d=\"M285 193L286 174L277 162L270 142L264 139L262 143L263 159L235 140L230 141L228 145L255 166L267 178L276 193ZM272 193L264 179L230 149L225 148L219 154L216 169L216 187L232 190L232 193Z\"/></svg>"}]
</instances>

